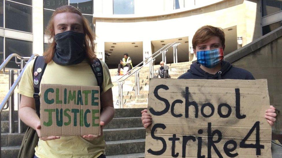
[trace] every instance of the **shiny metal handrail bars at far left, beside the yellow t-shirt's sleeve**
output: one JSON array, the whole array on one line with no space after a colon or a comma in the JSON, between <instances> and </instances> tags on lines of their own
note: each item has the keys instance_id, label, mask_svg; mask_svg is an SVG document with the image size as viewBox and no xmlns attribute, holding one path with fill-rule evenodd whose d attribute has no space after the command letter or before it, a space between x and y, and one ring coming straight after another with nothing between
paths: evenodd
<instances>
[{"instance_id":1,"label":"shiny metal handrail bars at far left, beside the yellow t-shirt's sleeve","mask_svg":"<svg viewBox=\"0 0 282 158\"><path fill-rule=\"evenodd\" d=\"M39 56L39 55L38 55L38 54L33 54L31 57L21 57L21 56L19 56L18 54L11 54L11 55L9 55L8 58L1 64L1 66L0 66L0 71L5 68L5 66L8 64L8 62L9 62L13 57L16 57L16 58L18 58L18 59L20 59L20 60L27 60L27 59L29 59L29 60L27 61L27 63L29 63L35 56ZM26 64L26 65L27 65L27 64ZM4 106L7 104L8 100L9 100L10 96L12 95L12 93L14 92L14 90L16 89L16 86L17 86L18 83L20 82L21 77L23 76L23 72L24 72L24 70L25 70L25 68L26 68L26 65L25 65L25 67L23 67L22 72L21 72L20 75L17 77L16 81L14 82L14 84L12 85L12 87L10 88L8 94L5 96L5 98L4 98L3 101L1 102L1 104L0 104L0 113L2 112ZM5 74L6 74L6 73L5 73Z\"/></svg>"}]
</instances>

